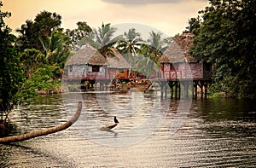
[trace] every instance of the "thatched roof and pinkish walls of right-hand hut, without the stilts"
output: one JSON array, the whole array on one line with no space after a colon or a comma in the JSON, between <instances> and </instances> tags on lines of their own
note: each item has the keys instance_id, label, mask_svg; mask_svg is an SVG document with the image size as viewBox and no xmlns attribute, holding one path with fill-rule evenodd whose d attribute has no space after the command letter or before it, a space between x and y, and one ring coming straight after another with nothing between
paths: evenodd
<instances>
[{"instance_id":1,"label":"thatched roof and pinkish walls of right-hand hut, without the stilts","mask_svg":"<svg viewBox=\"0 0 256 168\"><path fill-rule=\"evenodd\" d=\"M160 57L163 78L167 80L211 78L211 64L199 62L189 54L193 38L192 33L183 32L166 49L164 55Z\"/></svg>"}]
</instances>

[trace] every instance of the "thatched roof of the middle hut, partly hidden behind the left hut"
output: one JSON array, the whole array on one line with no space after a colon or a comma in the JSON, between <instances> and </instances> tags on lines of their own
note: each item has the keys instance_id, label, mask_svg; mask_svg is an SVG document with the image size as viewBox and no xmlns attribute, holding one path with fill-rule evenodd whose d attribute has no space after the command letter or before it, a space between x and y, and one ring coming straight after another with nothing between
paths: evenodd
<instances>
[{"instance_id":1,"label":"thatched roof of the middle hut, partly hidden behind the left hut","mask_svg":"<svg viewBox=\"0 0 256 168\"><path fill-rule=\"evenodd\" d=\"M130 69L131 65L125 60L118 49L112 49L114 56L108 56L108 68Z\"/></svg>"}]
</instances>

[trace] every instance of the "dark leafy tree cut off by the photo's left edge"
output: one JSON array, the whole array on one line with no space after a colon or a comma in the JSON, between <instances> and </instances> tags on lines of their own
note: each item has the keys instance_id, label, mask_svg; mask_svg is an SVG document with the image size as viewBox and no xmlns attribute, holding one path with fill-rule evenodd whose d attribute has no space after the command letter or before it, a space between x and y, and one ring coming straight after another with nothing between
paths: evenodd
<instances>
[{"instance_id":1,"label":"dark leafy tree cut off by the photo's left edge","mask_svg":"<svg viewBox=\"0 0 256 168\"><path fill-rule=\"evenodd\" d=\"M0 8L1 6L3 4L0 2ZM17 102L15 95L23 82L23 71L19 65L20 58L13 46L15 36L10 34L11 30L4 23L4 18L9 16L9 12L0 10L0 113L3 124Z\"/></svg>"}]
</instances>

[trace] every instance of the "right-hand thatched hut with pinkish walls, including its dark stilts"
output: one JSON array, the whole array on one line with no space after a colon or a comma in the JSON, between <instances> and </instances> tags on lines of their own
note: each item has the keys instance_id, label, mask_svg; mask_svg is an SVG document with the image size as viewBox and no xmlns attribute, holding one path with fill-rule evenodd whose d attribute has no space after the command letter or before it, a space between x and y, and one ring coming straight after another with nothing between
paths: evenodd
<instances>
[{"instance_id":1,"label":"right-hand thatched hut with pinkish walls, including its dark stilts","mask_svg":"<svg viewBox=\"0 0 256 168\"><path fill-rule=\"evenodd\" d=\"M184 88L184 96L188 97L189 88L192 95L197 96L197 86L205 87L207 96L207 84L212 76L212 65L207 62L200 62L189 54L189 49L193 45L194 35L190 32L183 32L177 36L174 42L166 49L164 55L160 57L162 79L168 81L171 90L175 87L175 96L180 95L181 84ZM177 93L178 90L178 93Z\"/></svg>"}]
</instances>

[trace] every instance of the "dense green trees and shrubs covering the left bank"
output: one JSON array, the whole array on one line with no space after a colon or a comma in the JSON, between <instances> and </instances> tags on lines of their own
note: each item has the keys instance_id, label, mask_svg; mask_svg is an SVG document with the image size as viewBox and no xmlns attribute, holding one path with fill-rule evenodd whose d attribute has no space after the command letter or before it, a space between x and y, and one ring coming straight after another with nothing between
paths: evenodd
<instances>
[{"instance_id":1,"label":"dense green trees and shrubs covering the left bank","mask_svg":"<svg viewBox=\"0 0 256 168\"><path fill-rule=\"evenodd\" d=\"M70 52L60 15L41 12L21 26L18 38L4 23L10 15L0 10L0 133L14 107L61 87L61 67Z\"/></svg>"}]
</instances>

